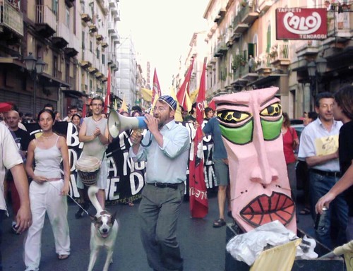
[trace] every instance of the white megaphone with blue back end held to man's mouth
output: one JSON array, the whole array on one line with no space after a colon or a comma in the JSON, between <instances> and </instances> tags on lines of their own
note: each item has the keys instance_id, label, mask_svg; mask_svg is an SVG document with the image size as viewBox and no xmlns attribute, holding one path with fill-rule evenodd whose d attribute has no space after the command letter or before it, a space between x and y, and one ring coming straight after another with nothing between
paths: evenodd
<instances>
[{"instance_id":1,"label":"white megaphone with blue back end held to man's mouth","mask_svg":"<svg viewBox=\"0 0 353 271\"><path fill-rule=\"evenodd\" d=\"M119 133L130 129L147 129L144 116L123 116L112 110L108 117L108 130L112 138L117 138Z\"/></svg>"}]
</instances>

